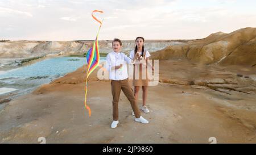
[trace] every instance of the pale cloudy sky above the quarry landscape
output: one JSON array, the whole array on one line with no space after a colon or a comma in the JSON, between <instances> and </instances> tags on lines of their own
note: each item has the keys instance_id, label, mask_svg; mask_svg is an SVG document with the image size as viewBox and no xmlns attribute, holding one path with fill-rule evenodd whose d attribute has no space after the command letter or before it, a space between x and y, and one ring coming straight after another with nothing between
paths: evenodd
<instances>
[{"instance_id":1,"label":"pale cloudy sky above the quarry landscape","mask_svg":"<svg viewBox=\"0 0 256 155\"><path fill-rule=\"evenodd\" d=\"M199 39L256 27L255 0L0 0L0 40Z\"/></svg>"}]
</instances>

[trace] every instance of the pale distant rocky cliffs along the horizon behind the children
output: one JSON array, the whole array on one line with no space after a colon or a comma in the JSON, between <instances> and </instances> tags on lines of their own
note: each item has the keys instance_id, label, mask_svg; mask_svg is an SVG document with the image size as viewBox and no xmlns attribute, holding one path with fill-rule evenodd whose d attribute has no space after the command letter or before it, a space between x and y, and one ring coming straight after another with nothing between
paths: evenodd
<instances>
[{"instance_id":1,"label":"pale distant rocky cliffs along the horizon behind the children","mask_svg":"<svg viewBox=\"0 0 256 155\"><path fill-rule=\"evenodd\" d=\"M145 47L153 52L186 40L146 40ZM112 40L98 42L101 53L112 51ZM92 47L93 41L0 41L0 58L27 58L38 56L79 55ZM123 52L135 47L134 40L123 40Z\"/></svg>"}]
</instances>

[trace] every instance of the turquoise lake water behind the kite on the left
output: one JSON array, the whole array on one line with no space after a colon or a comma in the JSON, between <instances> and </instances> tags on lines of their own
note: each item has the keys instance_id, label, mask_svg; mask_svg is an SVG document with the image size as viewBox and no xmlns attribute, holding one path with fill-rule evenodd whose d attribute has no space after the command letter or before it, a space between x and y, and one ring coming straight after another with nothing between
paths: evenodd
<instances>
[{"instance_id":1,"label":"turquoise lake water behind the kite on the left","mask_svg":"<svg viewBox=\"0 0 256 155\"><path fill-rule=\"evenodd\" d=\"M105 60L106 57L100 57L100 62ZM86 64L85 57L56 57L1 72L0 95L17 91L27 92L73 72L84 64Z\"/></svg>"}]
</instances>

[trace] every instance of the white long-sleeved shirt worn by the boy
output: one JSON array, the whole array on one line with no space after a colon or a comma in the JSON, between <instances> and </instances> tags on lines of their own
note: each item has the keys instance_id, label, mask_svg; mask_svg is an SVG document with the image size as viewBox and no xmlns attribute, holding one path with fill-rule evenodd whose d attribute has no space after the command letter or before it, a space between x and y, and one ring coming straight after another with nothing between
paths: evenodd
<instances>
[{"instance_id":1,"label":"white long-sleeved shirt worn by the boy","mask_svg":"<svg viewBox=\"0 0 256 155\"><path fill-rule=\"evenodd\" d=\"M123 80L128 78L127 64L131 63L131 59L122 52L110 52L106 56L106 67L109 71L109 79ZM113 66L123 64L122 68L112 69Z\"/></svg>"}]
</instances>

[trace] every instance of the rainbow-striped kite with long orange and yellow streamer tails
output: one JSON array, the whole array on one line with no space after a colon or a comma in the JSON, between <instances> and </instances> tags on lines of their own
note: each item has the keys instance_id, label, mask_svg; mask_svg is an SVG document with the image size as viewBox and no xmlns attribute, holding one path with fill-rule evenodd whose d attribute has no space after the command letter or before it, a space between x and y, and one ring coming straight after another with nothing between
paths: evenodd
<instances>
[{"instance_id":1,"label":"rainbow-striped kite with long orange and yellow streamer tails","mask_svg":"<svg viewBox=\"0 0 256 155\"><path fill-rule=\"evenodd\" d=\"M93 19L95 19L98 23L100 23L100 27L98 28L98 33L100 32L100 29L101 29L101 25L102 25L102 22L100 20L98 20L94 15L93 13L94 12L101 12L103 13L103 11L98 11L98 10L94 10L92 12L92 17ZM90 75L90 73L93 72L94 69L97 68L99 62L100 62L100 52L98 51L98 33L97 33L97 36L96 36L96 39L93 43L93 48L90 48L89 51L87 52L86 54L86 60L87 60L87 74L86 74L86 81L85 81L85 101L84 101L84 108L86 108L89 112L89 116L91 114L91 111L90 111L90 107L86 105L86 96L87 96L87 82L88 82L88 77Z\"/></svg>"}]
</instances>

